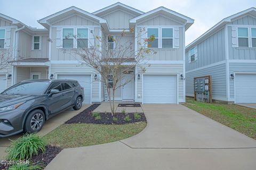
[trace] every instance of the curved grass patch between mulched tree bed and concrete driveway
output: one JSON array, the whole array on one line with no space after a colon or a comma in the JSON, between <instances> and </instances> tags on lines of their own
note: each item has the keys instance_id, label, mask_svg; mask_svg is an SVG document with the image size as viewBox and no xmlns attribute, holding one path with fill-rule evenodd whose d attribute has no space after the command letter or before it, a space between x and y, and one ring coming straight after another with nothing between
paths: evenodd
<instances>
[{"instance_id":1,"label":"curved grass patch between mulched tree bed and concrete driveway","mask_svg":"<svg viewBox=\"0 0 256 170\"><path fill-rule=\"evenodd\" d=\"M146 125L145 122L124 125L63 124L44 139L62 148L84 147L126 139L141 132Z\"/></svg>"}]
</instances>

